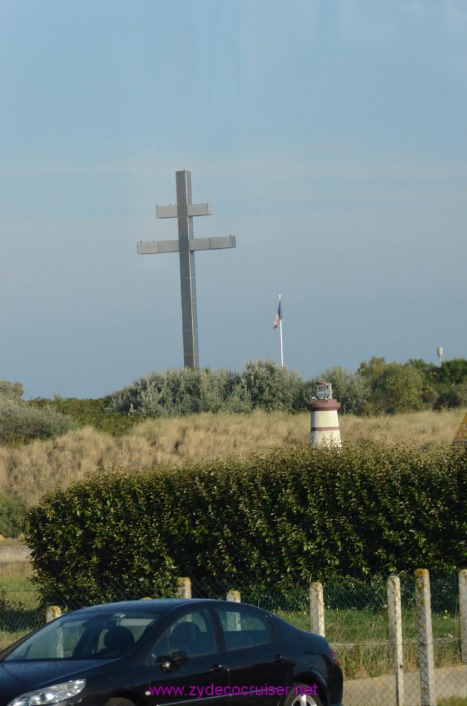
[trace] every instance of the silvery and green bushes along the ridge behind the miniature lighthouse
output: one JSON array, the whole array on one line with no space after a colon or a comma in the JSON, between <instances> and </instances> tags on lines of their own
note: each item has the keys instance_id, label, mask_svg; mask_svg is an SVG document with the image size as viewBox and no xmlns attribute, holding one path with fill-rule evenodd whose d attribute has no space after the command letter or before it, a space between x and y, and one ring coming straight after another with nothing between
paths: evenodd
<instances>
[{"instance_id":1,"label":"silvery and green bushes along the ridge behind the miniature lighthouse","mask_svg":"<svg viewBox=\"0 0 467 706\"><path fill-rule=\"evenodd\" d=\"M109 409L142 417L250 412L258 407L298 412L315 394L318 380L332 383L342 414L467 406L466 360L454 359L437 367L421 359L401 364L372 357L357 371L334 365L307 381L272 360L248 361L241 373L208 369L154 372L114 393Z\"/></svg>"}]
</instances>

